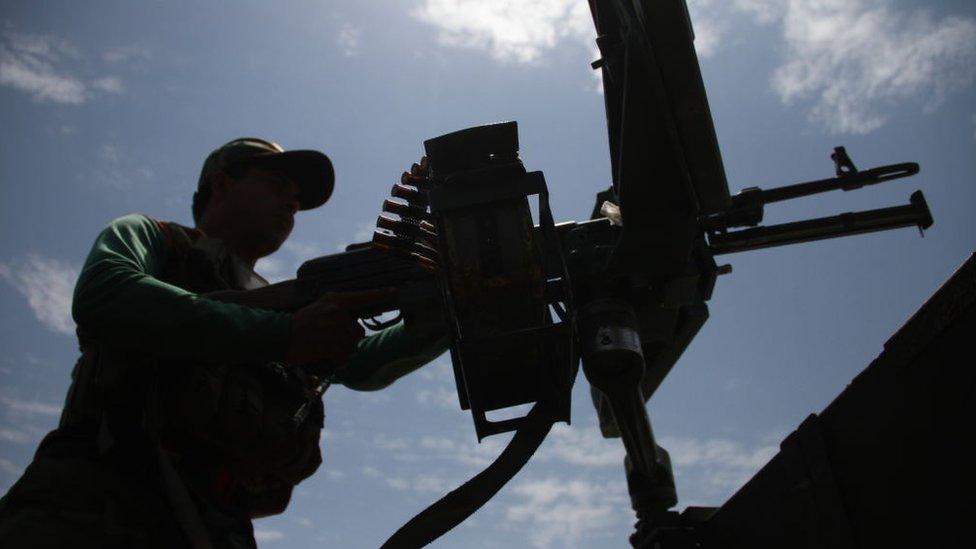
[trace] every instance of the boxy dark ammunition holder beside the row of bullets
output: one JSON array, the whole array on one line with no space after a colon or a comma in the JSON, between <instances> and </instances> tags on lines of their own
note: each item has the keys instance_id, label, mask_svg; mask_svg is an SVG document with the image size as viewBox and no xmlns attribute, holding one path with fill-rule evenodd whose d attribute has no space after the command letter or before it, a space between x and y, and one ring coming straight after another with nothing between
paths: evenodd
<instances>
[{"instance_id":1,"label":"boxy dark ammunition holder beside the row of bullets","mask_svg":"<svg viewBox=\"0 0 976 549\"><path fill-rule=\"evenodd\" d=\"M439 269L462 409L484 436L512 431L528 416L491 421L487 412L533 402L569 421L575 359L565 323L553 321L547 287L561 285L548 193L541 172L518 159L514 122L461 130L424 143L432 182L427 198L437 227ZM534 228L528 197L539 196ZM560 282L561 280L561 282Z\"/></svg>"}]
</instances>

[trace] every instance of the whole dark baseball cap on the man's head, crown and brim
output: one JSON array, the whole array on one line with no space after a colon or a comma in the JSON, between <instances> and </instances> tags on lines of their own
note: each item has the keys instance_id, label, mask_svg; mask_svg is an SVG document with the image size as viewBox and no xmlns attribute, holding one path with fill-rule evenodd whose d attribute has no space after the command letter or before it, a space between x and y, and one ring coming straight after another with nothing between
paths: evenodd
<instances>
[{"instance_id":1,"label":"whole dark baseball cap on the man's head, crown and brim","mask_svg":"<svg viewBox=\"0 0 976 549\"><path fill-rule=\"evenodd\" d=\"M332 162L319 151L286 151L273 141L240 137L207 156L200 170L197 193L209 196L210 174L226 171L230 166L254 166L282 172L298 185L300 210L310 210L324 204L332 195L335 184Z\"/></svg>"}]
</instances>

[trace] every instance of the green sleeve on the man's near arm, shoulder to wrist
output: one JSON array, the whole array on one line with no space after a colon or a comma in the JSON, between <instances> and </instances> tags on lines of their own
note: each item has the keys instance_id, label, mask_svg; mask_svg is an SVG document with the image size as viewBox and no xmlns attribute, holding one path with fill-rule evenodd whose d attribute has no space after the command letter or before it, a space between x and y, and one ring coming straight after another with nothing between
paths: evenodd
<instances>
[{"instance_id":1,"label":"green sleeve on the man's near arm, shoulder to wrist","mask_svg":"<svg viewBox=\"0 0 976 549\"><path fill-rule=\"evenodd\" d=\"M158 222L113 221L98 235L71 314L86 337L113 346L198 360L280 360L291 315L207 299L159 279L169 253Z\"/></svg>"}]
</instances>

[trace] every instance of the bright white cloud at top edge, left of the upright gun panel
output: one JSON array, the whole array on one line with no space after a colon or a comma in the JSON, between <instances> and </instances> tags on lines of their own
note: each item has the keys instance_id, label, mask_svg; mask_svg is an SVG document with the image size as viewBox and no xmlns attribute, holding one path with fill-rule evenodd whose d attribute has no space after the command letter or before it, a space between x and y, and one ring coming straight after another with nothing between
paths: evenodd
<instances>
[{"instance_id":1,"label":"bright white cloud at top edge, left of the upright gun panel","mask_svg":"<svg viewBox=\"0 0 976 549\"><path fill-rule=\"evenodd\" d=\"M516 63L538 61L562 38L592 40L595 34L586 2L572 0L426 0L412 15L438 27L444 45Z\"/></svg>"}]
</instances>

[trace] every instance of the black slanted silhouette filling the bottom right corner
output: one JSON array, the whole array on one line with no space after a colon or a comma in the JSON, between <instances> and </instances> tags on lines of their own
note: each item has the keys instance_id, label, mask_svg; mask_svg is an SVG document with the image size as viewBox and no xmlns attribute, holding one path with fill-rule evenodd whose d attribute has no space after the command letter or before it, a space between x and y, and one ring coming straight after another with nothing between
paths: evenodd
<instances>
[{"instance_id":1,"label":"black slanted silhouette filling the bottom right corner","mask_svg":"<svg viewBox=\"0 0 976 549\"><path fill-rule=\"evenodd\" d=\"M718 509L669 513L641 548L969 547L976 255Z\"/></svg>"}]
</instances>

